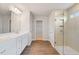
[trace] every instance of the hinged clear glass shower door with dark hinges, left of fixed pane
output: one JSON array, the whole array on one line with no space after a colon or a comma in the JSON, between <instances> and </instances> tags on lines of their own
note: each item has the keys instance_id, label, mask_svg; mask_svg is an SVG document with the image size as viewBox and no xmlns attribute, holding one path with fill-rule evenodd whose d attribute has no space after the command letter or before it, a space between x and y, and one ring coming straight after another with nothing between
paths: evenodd
<instances>
[{"instance_id":1,"label":"hinged clear glass shower door with dark hinges, left of fixed pane","mask_svg":"<svg viewBox=\"0 0 79 59\"><path fill-rule=\"evenodd\" d=\"M60 54L64 54L64 19L55 19L55 48Z\"/></svg>"}]
</instances>

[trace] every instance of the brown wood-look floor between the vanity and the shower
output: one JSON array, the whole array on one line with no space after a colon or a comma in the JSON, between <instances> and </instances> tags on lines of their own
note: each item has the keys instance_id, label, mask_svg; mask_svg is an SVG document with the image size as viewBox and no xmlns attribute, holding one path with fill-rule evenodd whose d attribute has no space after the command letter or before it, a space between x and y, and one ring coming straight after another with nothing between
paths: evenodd
<instances>
[{"instance_id":1,"label":"brown wood-look floor between the vanity and the shower","mask_svg":"<svg viewBox=\"0 0 79 59\"><path fill-rule=\"evenodd\" d=\"M36 40L22 52L22 55L59 55L49 41Z\"/></svg>"}]
</instances>

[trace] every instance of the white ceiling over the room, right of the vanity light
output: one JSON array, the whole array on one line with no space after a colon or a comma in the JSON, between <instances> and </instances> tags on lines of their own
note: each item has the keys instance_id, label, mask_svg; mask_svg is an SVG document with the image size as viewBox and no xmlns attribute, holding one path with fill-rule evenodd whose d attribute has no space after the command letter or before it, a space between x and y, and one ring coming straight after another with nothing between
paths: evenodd
<instances>
[{"instance_id":1,"label":"white ceiling over the room, right of the vanity light","mask_svg":"<svg viewBox=\"0 0 79 59\"><path fill-rule=\"evenodd\" d=\"M28 3L24 4L34 15L48 16L54 9L67 9L73 3Z\"/></svg>"}]
</instances>

